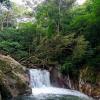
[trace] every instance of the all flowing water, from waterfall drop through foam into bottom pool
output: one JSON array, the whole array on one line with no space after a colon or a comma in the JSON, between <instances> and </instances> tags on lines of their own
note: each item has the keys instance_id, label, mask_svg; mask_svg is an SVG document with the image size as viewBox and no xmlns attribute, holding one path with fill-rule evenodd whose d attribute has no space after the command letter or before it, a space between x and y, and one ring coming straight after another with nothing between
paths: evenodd
<instances>
[{"instance_id":1,"label":"all flowing water, from waterfall drop through foam into bottom pool","mask_svg":"<svg viewBox=\"0 0 100 100\"><path fill-rule=\"evenodd\" d=\"M92 100L88 96L75 90L52 87L50 84L50 74L47 70L30 69L29 72L30 72L30 86L32 87L32 95L38 98L34 100ZM53 98L48 99L48 96L49 98L51 97ZM57 98L62 96L66 98L71 96L71 99L66 99L66 98L54 99L55 97ZM75 97L77 98L75 99Z\"/></svg>"}]
</instances>

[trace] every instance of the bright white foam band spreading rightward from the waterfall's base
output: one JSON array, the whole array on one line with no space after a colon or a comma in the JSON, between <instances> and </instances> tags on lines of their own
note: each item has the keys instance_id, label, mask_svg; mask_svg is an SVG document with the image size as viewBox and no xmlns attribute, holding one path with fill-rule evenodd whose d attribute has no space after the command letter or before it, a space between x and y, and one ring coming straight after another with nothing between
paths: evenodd
<instances>
[{"instance_id":1,"label":"bright white foam band spreading rightward from the waterfall's base","mask_svg":"<svg viewBox=\"0 0 100 100\"><path fill-rule=\"evenodd\" d=\"M56 87L32 88L32 94L33 95L41 95L41 94L72 95L72 96L88 98L88 96L78 91L63 89L63 88L56 88Z\"/></svg>"}]
</instances>

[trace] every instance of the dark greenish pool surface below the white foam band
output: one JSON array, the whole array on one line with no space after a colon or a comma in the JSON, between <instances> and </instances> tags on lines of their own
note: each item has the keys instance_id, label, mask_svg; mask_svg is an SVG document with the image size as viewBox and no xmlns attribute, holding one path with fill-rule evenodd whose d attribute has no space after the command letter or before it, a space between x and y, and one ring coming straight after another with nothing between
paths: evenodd
<instances>
[{"instance_id":1,"label":"dark greenish pool surface below the white foam band","mask_svg":"<svg viewBox=\"0 0 100 100\"><path fill-rule=\"evenodd\" d=\"M12 100L92 100L72 95L18 96Z\"/></svg>"}]
</instances>

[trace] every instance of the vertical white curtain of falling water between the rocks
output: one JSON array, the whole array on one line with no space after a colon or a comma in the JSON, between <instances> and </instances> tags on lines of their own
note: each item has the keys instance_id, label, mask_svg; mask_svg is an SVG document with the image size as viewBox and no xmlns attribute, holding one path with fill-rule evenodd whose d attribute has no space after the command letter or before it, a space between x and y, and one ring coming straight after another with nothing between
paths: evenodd
<instances>
[{"instance_id":1,"label":"vertical white curtain of falling water between the rocks","mask_svg":"<svg viewBox=\"0 0 100 100\"><path fill-rule=\"evenodd\" d=\"M30 70L30 85L32 88L50 87L50 74L46 70Z\"/></svg>"}]
</instances>

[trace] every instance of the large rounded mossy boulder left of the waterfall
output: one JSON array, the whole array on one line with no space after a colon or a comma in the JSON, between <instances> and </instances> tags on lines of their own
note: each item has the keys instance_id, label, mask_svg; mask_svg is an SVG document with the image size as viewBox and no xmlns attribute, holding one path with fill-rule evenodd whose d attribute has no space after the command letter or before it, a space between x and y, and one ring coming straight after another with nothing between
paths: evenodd
<instances>
[{"instance_id":1,"label":"large rounded mossy boulder left of the waterfall","mask_svg":"<svg viewBox=\"0 0 100 100\"><path fill-rule=\"evenodd\" d=\"M30 92L26 69L10 56L0 55L0 93L3 99Z\"/></svg>"}]
</instances>

